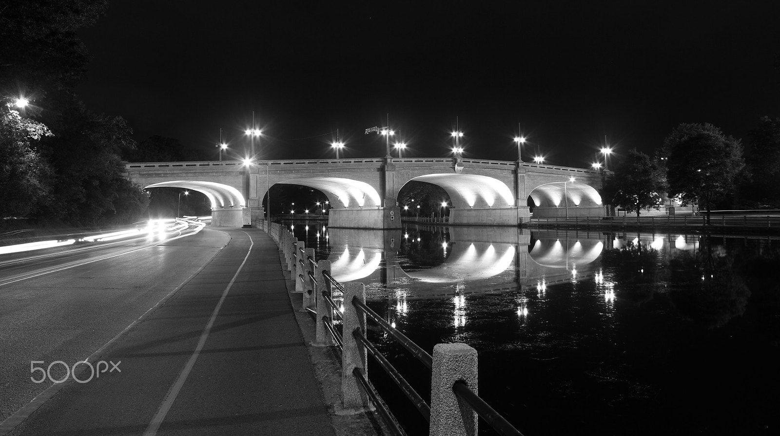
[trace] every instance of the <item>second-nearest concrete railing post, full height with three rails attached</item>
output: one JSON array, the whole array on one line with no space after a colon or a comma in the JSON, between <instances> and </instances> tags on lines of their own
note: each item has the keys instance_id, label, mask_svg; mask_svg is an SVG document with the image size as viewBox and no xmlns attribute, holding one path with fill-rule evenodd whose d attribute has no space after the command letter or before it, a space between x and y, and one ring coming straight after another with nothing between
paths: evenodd
<instances>
[{"instance_id":1,"label":"second-nearest concrete railing post, full height with three rails attached","mask_svg":"<svg viewBox=\"0 0 780 436\"><path fill-rule=\"evenodd\" d=\"M366 349L357 342L352 332L359 329L366 335L366 314L358 312L352 304L354 297L366 302L366 286L360 282L349 282L344 285L344 312L342 313L342 405L345 409L373 409L371 399L363 391L352 371L360 368L363 376L368 378L368 361Z\"/></svg>"}]
</instances>

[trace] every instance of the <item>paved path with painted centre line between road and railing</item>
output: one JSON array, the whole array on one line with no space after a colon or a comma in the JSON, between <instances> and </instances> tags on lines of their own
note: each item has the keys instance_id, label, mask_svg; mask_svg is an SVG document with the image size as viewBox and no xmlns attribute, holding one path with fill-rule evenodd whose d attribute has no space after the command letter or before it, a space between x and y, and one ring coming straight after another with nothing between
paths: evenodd
<instances>
[{"instance_id":1,"label":"paved path with painted centre line between road and railing","mask_svg":"<svg viewBox=\"0 0 780 436\"><path fill-rule=\"evenodd\" d=\"M332 380L323 395L312 356L339 368L301 335L273 240L221 231L230 243L97 359L121 373L67 382L11 434L376 434L365 414L335 415Z\"/></svg>"}]
</instances>

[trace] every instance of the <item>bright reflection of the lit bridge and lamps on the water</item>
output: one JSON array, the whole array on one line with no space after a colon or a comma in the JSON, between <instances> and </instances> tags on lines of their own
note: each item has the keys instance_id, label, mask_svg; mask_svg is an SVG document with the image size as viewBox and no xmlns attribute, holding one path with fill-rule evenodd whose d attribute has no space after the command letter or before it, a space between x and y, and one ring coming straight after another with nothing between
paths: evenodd
<instances>
[{"instance_id":1,"label":"bright reflection of the lit bridge and lamps on the water","mask_svg":"<svg viewBox=\"0 0 780 436\"><path fill-rule=\"evenodd\" d=\"M505 227L410 225L399 230L328 229L293 225L318 259L332 263L339 282L363 282L369 300L465 296L537 290L556 283L604 281L605 250L645 246L665 253L694 250L697 239L633 233L575 232ZM609 286L609 282L604 283ZM457 305L457 301L456 301Z\"/></svg>"}]
</instances>

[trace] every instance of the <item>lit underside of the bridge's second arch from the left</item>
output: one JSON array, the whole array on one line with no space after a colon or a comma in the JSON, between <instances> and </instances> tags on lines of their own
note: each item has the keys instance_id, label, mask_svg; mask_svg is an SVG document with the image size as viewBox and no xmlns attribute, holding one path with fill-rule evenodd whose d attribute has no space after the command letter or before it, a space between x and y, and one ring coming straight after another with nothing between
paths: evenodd
<instances>
[{"instance_id":1,"label":"lit underside of the bridge's second arch from the left","mask_svg":"<svg viewBox=\"0 0 780 436\"><path fill-rule=\"evenodd\" d=\"M340 177L308 177L279 182L287 185L309 186L328 196L333 207L379 207L379 193L371 185ZM337 202L338 201L338 202Z\"/></svg>"}]
</instances>

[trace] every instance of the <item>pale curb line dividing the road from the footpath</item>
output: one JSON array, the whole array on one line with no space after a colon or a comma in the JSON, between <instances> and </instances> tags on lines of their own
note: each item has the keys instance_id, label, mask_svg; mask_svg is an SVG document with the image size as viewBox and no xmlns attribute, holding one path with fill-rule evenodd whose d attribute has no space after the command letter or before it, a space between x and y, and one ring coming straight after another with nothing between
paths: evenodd
<instances>
[{"instance_id":1,"label":"pale curb line dividing the road from the footpath","mask_svg":"<svg viewBox=\"0 0 780 436\"><path fill-rule=\"evenodd\" d=\"M245 232L246 233L246 232ZM230 241L228 241L230 243ZM193 272L190 277L186 278L184 282L182 282L181 285L176 286L176 289L173 289L171 292L168 292L168 295L162 297L160 301L158 301L154 306L150 307L146 312L144 312L143 315L138 317L136 321L133 321L131 324L129 324L124 330L120 331L118 335L114 336L113 339L106 342L105 345L101 346L100 349L98 349L96 352L92 353L91 356L87 357L87 361L94 362L95 360L99 359L103 353L105 353L105 350L108 349L109 346L111 346L114 342L119 340L123 335L125 335L130 329L135 327L138 323L143 322L147 316L150 314L153 314L155 310L158 309L158 307L161 307L164 305L168 300L171 299L171 297L176 294L176 292L179 292L179 289L182 289L184 285L189 283L193 277L200 274L200 271L203 271L204 268L206 268L209 264L211 264L211 261L214 260L215 257L217 257L217 254L219 254L220 251L225 247L220 248L214 256L209 259L203 266L197 269L197 271ZM251 248L251 247L250 247ZM44 402L47 402L51 397L53 397L57 392L59 392L60 389L64 388L66 385L70 385L73 383L72 379L68 379L64 383L55 383L48 388L44 392L41 392L40 394L36 395L34 399L32 399L30 402L27 403L26 406L23 406L21 409L16 410L10 417L6 418L2 423L0 423L0 436L5 436L5 434L9 434L14 427L19 425L23 420L26 420L27 417L30 416L31 413L33 413L35 410L38 409L38 407L43 406Z\"/></svg>"}]
</instances>

